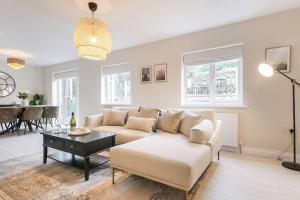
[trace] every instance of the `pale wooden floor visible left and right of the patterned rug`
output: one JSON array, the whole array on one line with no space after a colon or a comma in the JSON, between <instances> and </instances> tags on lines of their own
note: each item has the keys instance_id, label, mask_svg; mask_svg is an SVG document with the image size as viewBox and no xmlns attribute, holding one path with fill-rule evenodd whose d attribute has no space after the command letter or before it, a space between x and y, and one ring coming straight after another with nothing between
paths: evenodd
<instances>
[{"instance_id":1,"label":"pale wooden floor visible left and right of the patterned rug","mask_svg":"<svg viewBox=\"0 0 300 200\"><path fill-rule=\"evenodd\" d=\"M42 150L40 134L0 139L0 161ZM221 152L209 169L195 200L299 200L300 172L279 161Z\"/></svg>"}]
</instances>

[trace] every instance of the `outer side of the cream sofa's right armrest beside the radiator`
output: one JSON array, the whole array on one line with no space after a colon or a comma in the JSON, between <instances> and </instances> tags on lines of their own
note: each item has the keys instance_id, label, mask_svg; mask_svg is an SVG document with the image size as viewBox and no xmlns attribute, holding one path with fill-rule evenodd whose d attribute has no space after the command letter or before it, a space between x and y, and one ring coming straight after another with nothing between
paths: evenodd
<instances>
[{"instance_id":1,"label":"outer side of the cream sofa's right armrest beside the radiator","mask_svg":"<svg viewBox=\"0 0 300 200\"><path fill-rule=\"evenodd\" d=\"M215 128L214 134L207 143L211 147L212 160L218 154L218 152L220 151L221 146L222 146L221 129L222 129L222 121L216 120L216 128Z\"/></svg>"}]
</instances>

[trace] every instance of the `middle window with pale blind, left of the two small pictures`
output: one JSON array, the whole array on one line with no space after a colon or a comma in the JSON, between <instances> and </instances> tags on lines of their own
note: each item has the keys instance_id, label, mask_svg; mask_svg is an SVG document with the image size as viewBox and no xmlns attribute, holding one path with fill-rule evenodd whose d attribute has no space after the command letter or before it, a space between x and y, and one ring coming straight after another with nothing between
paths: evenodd
<instances>
[{"instance_id":1,"label":"middle window with pale blind, left of the two small pictures","mask_svg":"<svg viewBox=\"0 0 300 200\"><path fill-rule=\"evenodd\" d=\"M131 104L130 64L123 63L103 67L102 104Z\"/></svg>"}]
</instances>

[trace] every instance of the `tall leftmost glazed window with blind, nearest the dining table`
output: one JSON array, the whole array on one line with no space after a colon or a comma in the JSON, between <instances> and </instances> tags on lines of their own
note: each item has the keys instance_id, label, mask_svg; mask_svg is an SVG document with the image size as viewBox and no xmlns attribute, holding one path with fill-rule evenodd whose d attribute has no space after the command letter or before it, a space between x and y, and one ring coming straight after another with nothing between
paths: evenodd
<instances>
[{"instance_id":1,"label":"tall leftmost glazed window with blind, nearest the dining table","mask_svg":"<svg viewBox=\"0 0 300 200\"><path fill-rule=\"evenodd\" d=\"M69 120L72 112L79 119L78 71L54 73L53 103L59 107L59 118Z\"/></svg>"}]
</instances>

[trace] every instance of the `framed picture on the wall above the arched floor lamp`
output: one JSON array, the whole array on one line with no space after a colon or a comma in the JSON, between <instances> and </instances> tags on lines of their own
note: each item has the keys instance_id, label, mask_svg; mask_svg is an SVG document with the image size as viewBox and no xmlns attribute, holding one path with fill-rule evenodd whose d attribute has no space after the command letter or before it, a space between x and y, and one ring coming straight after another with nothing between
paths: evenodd
<instances>
[{"instance_id":1,"label":"framed picture on the wall above the arched floor lamp","mask_svg":"<svg viewBox=\"0 0 300 200\"><path fill-rule=\"evenodd\" d=\"M290 72L291 46L267 48L266 63L281 72Z\"/></svg>"}]
</instances>

